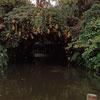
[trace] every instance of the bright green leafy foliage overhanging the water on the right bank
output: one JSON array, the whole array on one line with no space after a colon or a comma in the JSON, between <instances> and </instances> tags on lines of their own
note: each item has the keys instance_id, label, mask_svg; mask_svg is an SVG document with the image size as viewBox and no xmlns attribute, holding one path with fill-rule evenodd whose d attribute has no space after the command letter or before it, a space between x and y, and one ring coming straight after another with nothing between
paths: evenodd
<instances>
[{"instance_id":1,"label":"bright green leafy foliage overhanging the water on the right bank","mask_svg":"<svg viewBox=\"0 0 100 100\"><path fill-rule=\"evenodd\" d=\"M99 70L100 68L100 5L96 4L85 12L85 18L82 20L83 29L79 39L73 39L69 44L71 48L78 49L80 53L74 53L74 60L79 61L84 66Z\"/></svg>"}]
</instances>

